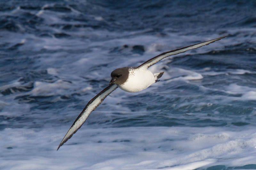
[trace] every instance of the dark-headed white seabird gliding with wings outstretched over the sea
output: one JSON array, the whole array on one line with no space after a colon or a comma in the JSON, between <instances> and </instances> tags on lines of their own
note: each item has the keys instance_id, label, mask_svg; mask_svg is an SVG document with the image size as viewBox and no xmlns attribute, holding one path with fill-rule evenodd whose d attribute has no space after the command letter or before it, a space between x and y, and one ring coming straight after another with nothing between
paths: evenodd
<instances>
[{"instance_id":1,"label":"dark-headed white seabird gliding with wings outstretched over the sea","mask_svg":"<svg viewBox=\"0 0 256 170\"><path fill-rule=\"evenodd\" d=\"M212 42L219 41L224 37L216 38L210 41L201 42L198 44L190 45L187 47L178 48L171 51L166 51L162 54L159 54L145 63L140 64L137 67L123 67L118 68L111 72L111 81L109 83L109 86L106 87L104 90L102 90L99 94L97 94L92 100L90 100L87 105L84 107L84 110L80 113L80 115L76 118L75 122L72 124L70 129L68 130L65 137L60 142L60 146L62 146L65 142L68 141L72 137L76 131L81 128L83 123L86 121L88 116L92 113L93 110L95 110L102 101L114 90L116 90L117 87L120 89L126 91L126 92L140 92L141 90L144 90L148 88L153 83L158 82L159 78L162 77L164 72L160 73L152 73L148 70L148 68L157 62L163 60L165 57L176 55L180 53L184 53L188 50L199 48L205 45L208 45ZM58 151L57 149L57 151Z\"/></svg>"}]
</instances>

